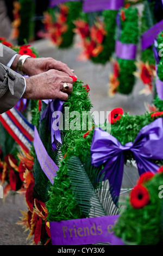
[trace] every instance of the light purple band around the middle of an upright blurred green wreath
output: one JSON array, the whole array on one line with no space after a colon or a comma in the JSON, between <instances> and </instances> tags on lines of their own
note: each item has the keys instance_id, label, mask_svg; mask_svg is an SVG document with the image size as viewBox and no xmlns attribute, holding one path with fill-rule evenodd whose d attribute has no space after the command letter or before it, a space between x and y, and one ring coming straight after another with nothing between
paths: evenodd
<instances>
[{"instance_id":1,"label":"light purple band around the middle of an upright blurred green wreath","mask_svg":"<svg viewBox=\"0 0 163 256\"><path fill-rule=\"evenodd\" d=\"M116 57L120 59L135 59L136 45L123 44L120 41L116 41L115 53L116 53Z\"/></svg>"}]
</instances>

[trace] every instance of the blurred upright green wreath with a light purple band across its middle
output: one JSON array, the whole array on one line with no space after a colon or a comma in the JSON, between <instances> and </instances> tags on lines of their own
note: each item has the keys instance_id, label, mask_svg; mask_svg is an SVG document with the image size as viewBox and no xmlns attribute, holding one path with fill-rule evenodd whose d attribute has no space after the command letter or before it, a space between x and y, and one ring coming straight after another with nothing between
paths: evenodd
<instances>
[{"instance_id":1,"label":"blurred upright green wreath with a light purple band across its middle","mask_svg":"<svg viewBox=\"0 0 163 256\"><path fill-rule=\"evenodd\" d=\"M122 8L119 13L117 26L117 40L120 41L121 47L137 45L139 38L138 31L138 13L136 8L129 5ZM120 23L120 24L119 24ZM119 52L120 47L117 46ZM134 50L135 51L135 50ZM115 93L130 94L135 84L134 72L136 71L135 57L123 58L121 54L116 54L116 60L113 60L113 74L109 78L109 95Z\"/></svg>"}]
</instances>

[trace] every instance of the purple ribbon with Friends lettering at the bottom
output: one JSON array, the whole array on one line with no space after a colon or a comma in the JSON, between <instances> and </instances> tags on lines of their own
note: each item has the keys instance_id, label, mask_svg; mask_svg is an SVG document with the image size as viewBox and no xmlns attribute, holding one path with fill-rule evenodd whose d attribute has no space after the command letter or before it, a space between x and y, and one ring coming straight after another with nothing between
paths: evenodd
<instances>
[{"instance_id":1,"label":"purple ribbon with Friends lettering at the bottom","mask_svg":"<svg viewBox=\"0 0 163 256\"><path fill-rule=\"evenodd\" d=\"M112 232L118 217L112 215L50 222L52 245L91 245L98 242L124 245Z\"/></svg>"}]
</instances>

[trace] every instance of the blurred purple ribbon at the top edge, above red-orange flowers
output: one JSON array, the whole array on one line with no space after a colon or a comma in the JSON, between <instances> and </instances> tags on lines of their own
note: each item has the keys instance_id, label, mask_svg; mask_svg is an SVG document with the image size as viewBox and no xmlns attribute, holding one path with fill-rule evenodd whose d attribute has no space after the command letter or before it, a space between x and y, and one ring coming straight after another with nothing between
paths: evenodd
<instances>
[{"instance_id":1,"label":"blurred purple ribbon at the top edge, above red-orange flowers","mask_svg":"<svg viewBox=\"0 0 163 256\"><path fill-rule=\"evenodd\" d=\"M124 0L84 0L83 11L119 10L124 5Z\"/></svg>"}]
</instances>

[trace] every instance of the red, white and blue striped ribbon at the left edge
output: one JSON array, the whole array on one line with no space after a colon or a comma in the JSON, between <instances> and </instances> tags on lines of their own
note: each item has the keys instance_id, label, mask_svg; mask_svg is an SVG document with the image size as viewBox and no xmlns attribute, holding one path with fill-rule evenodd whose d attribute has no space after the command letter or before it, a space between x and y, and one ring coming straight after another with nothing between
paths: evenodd
<instances>
[{"instance_id":1,"label":"red, white and blue striped ribbon at the left edge","mask_svg":"<svg viewBox=\"0 0 163 256\"><path fill-rule=\"evenodd\" d=\"M34 126L15 107L1 114L0 121L17 144L29 153L34 139Z\"/></svg>"}]
</instances>

